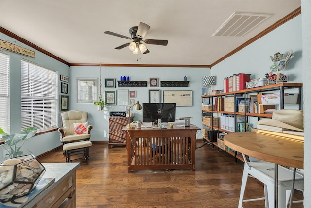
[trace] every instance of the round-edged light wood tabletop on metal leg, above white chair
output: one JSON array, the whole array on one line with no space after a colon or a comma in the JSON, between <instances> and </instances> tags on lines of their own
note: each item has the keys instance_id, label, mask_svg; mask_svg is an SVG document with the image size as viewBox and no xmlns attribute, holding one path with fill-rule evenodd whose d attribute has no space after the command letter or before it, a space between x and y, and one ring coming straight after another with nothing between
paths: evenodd
<instances>
[{"instance_id":1,"label":"round-edged light wood tabletop on metal leg, above white chair","mask_svg":"<svg viewBox=\"0 0 311 208\"><path fill-rule=\"evenodd\" d=\"M303 143L257 132L229 133L224 143L235 151L282 166L303 168ZM277 172L277 165L276 165ZM277 176L277 174L276 174ZM277 177L275 180L275 185ZM275 187L275 191L277 186ZM277 197L276 197L277 207Z\"/></svg>"}]
</instances>

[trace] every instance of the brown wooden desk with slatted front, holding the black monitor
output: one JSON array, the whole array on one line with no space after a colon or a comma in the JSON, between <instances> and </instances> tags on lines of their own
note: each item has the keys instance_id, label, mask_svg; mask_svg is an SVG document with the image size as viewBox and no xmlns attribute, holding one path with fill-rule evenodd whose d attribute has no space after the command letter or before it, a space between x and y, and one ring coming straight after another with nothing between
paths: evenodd
<instances>
[{"instance_id":1,"label":"brown wooden desk with slatted front, holding the black monitor","mask_svg":"<svg viewBox=\"0 0 311 208\"><path fill-rule=\"evenodd\" d=\"M127 171L142 169L195 170L197 126L127 129Z\"/></svg>"}]
</instances>

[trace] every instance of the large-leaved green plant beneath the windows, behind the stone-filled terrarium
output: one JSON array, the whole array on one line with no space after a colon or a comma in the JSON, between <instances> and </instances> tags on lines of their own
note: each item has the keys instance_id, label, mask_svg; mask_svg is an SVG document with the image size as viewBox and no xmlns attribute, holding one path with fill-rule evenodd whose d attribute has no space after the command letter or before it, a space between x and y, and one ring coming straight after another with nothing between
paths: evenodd
<instances>
[{"instance_id":1,"label":"large-leaved green plant beneath the windows, behind the stone-filled terrarium","mask_svg":"<svg viewBox=\"0 0 311 208\"><path fill-rule=\"evenodd\" d=\"M23 151L20 151L20 148L25 143L26 139L30 139L38 131L36 127L28 127L22 129L20 133L7 134L0 128L0 134L4 140L4 144L9 146L10 149L7 149L3 146L9 153L8 155L12 157L18 157L23 155Z\"/></svg>"}]
</instances>

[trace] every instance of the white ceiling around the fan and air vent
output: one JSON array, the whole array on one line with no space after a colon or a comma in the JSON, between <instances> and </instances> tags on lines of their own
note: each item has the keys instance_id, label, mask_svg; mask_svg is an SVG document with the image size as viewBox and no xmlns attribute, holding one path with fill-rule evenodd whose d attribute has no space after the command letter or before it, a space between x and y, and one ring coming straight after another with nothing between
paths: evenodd
<instances>
[{"instance_id":1,"label":"white ceiling around the fan and air vent","mask_svg":"<svg viewBox=\"0 0 311 208\"><path fill-rule=\"evenodd\" d=\"M70 64L209 66L300 7L300 0L0 0L0 26ZM242 37L212 37L234 12L272 15ZM114 49L139 22L150 53ZM3 39L0 37L0 39ZM26 47L26 45L22 45ZM27 47L26 47L27 48Z\"/></svg>"}]
</instances>

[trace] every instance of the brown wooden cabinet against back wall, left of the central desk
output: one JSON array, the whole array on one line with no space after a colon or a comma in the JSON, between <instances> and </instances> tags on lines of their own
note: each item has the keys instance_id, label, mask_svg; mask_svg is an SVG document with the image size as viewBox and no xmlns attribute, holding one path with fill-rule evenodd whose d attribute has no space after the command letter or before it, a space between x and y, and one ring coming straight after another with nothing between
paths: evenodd
<instances>
[{"instance_id":1,"label":"brown wooden cabinet against back wall, left of the central desk","mask_svg":"<svg viewBox=\"0 0 311 208\"><path fill-rule=\"evenodd\" d=\"M133 118L130 118L130 122ZM128 124L128 117L109 117L109 143L108 148L114 145L126 145L126 132L122 131Z\"/></svg>"}]
</instances>

